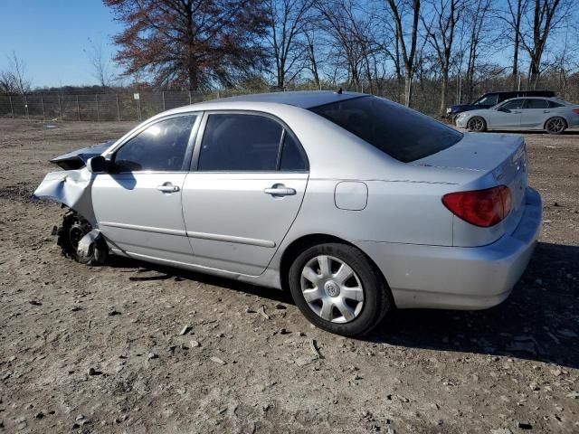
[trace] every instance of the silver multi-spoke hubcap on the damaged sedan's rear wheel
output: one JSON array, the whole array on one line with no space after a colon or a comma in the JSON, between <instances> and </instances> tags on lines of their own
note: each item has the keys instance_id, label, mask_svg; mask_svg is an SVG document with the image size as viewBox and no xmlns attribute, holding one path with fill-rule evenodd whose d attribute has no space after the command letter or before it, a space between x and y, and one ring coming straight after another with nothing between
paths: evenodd
<instances>
[{"instance_id":1,"label":"silver multi-spoke hubcap on the damaged sedan's rear wheel","mask_svg":"<svg viewBox=\"0 0 579 434\"><path fill-rule=\"evenodd\" d=\"M308 307L332 323L348 323L364 307L360 278L346 262L333 256L308 261L301 271L301 292Z\"/></svg>"}]
</instances>

